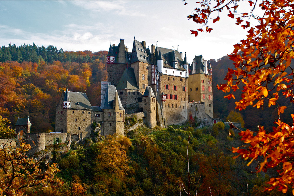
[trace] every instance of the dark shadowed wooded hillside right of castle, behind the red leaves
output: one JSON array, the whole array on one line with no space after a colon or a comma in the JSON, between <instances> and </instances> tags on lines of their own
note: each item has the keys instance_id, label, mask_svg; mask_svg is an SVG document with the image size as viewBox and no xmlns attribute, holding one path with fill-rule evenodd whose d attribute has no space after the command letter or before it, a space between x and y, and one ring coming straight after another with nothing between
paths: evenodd
<instances>
[{"instance_id":1,"label":"dark shadowed wooded hillside right of castle, behind the red leaves","mask_svg":"<svg viewBox=\"0 0 294 196\"><path fill-rule=\"evenodd\" d=\"M241 90L243 90L243 87L239 86L240 89L234 93L236 99L224 99L223 97L226 96L226 94L218 90L216 85L226 82L224 81L224 78L228 72L228 68L234 68L233 61L231 61L228 56L223 56L217 61L212 59L210 62L211 67L213 68L213 115L214 118L221 118L225 120L229 112L231 110L235 110L235 101L240 100L242 93ZM291 70L289 69L289 71ZM293 112L293 106L290 104L290 99L280 96L278 103L284 103L287 105L287 109L283 114L281 114L281 119L282 121L291 124L291 112ZM252 106L248 106L246 110L235 111L238 111L243 115L245 128L258 130L257 125L262 125L265 126L265 129L270 130L274 126L273 122L278 119L278 115L276 107L268 108L267 105L268 104L265 102L265 106L262 110L257 109L256 107L253 108Z\"/></svg>"}]
</instances>

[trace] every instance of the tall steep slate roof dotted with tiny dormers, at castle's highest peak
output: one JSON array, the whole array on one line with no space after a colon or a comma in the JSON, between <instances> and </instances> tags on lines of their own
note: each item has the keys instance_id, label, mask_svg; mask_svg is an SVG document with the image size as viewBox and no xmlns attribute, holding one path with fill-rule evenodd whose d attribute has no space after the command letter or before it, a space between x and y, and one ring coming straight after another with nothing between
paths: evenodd
<instances>
[{"instance_id":1,"label":"tall steep slate roof dotted with tiny dormers, at castle's highest peak","mask_svg":"<svg viewBox=\"0 0 294 196\"><path fill-rule=\"evenodd\" d=\"M148 56L148 51L142 46L142 43L134 39L131 63L135 63L137 61L151 63L151 58Z\"/></svg>"}]
</instances>

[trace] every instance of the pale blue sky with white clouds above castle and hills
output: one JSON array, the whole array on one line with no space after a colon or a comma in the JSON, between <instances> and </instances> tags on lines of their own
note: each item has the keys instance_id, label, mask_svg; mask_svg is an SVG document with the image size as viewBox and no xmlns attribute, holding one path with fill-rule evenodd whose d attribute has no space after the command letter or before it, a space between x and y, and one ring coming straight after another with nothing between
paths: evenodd
<instances>
[{"instance_id":1,"label":"pale blue sky with white clouds above castle and hills","mask_svg":"<svg viewBox=\"0 0 294 196\"><path fill-rule=\"evenodd\" d=\"M120 39L132 48L134 37L186 52L191 63L203 55L206 60L219 59L233 52L233 45L246 38L246 30L222 12L220 21L211 23L211 33L190 30L199 28L187 16L195 1L0 1L0 46L9 42L49 44L64 51L108 51L110 43ZM247 30L248 31L248 30ZM130 50L129 50L130 51Z\"/></svg>"}]
</instances>

